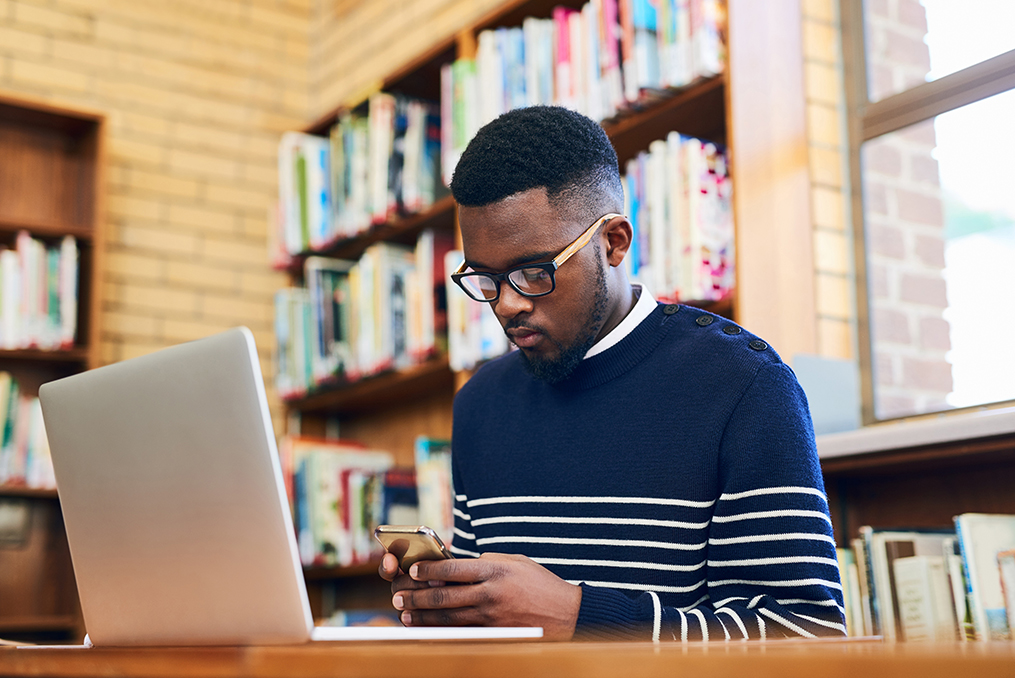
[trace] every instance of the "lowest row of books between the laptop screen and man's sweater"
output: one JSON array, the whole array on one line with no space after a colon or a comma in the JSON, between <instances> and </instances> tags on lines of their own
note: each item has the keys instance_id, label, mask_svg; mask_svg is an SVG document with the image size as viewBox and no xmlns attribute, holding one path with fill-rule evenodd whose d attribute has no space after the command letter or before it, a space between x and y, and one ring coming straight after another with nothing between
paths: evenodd
<instances>
[{"instance_id":1,"label":"lowest row of books between the laptop screen and man's sweater","mask_svg":"<svg viewBox=\"0 0 1015 678\"><path fill-rule=\"evenodd\" d=\"M419 436L416 468L357 443L286 436L282 475L304 566L348 566L377 559L378 525L429 525L451 540L451 444Z\"/></svg>"}]
</instances>

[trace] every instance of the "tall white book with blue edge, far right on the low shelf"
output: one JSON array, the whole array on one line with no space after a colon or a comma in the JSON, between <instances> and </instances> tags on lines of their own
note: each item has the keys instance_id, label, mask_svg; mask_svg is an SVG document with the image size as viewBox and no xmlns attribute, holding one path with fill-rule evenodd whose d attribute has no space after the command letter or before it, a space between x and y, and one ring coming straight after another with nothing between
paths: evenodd
<instances>
[{"instance_id":1,"label":"tall white book with blue edge, far right on the low shelf","mask_svg":"<svg viewBox=\"0 0 1015 678\"><path fill-rule=\"evenodd\" d=\"M955 517L968 600L977 640L1011 637L1001 591L998 553L1015 548L1015 516L962 514Z\"/></svg>"}]
</instances>

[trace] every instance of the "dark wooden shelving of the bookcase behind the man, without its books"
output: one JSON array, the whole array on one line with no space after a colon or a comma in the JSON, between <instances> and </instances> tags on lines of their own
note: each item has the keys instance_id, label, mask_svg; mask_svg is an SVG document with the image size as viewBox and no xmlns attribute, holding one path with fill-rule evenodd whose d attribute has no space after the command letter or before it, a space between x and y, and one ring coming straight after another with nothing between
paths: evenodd
<instances>
[{"instance_id":1,"label":"dark wooden shelving of the bookcase behind the man, without its books","mask_svg":"<svg viewBox=\"0 0 1015 678\"><path fill-rule=\"evenodd\" d=\"M582 0L512 0L503 2L486 16L463 27L420 54L409 64L391 73L374 90L396 92L427 100L441 98L441 69L460 57L475 55L480 31L501 26L520 26L525 17L548 18L553 7L574 9ZM649 144L665 139L670 131L696 136L728 145L730 87L729 69L724 73L698 79L679 90L647 100L636 109L603 123L617 150L621 171L627 160L648 150ZM340 107L309 125L303 131L326 136L345 111L359 107L368 92L348 106ZM736 184L736 180L734 181ZM315 252L302 252L293 258L287 273L293 283L301 281L301 266L307 256L323 255L356 259L374 243L411 244L424 228L453 233L456 209L452 198L439 199L423 212L396 217L351 239L330 244ZM736 292L719 301L694 302L728 318L737 316ZM329 424L338 420L343 438L357 439L369 448L390 451L399 466L411 466L413 439L416 435L450 437L452 400L468 379L467 372L454 372L446 356L400 370L388 371L354 383L329 383L309 395L285 402L289 420L298 421L298 432L321 436ZM293 416L296 415L296 416ZM322 613L323 600L337 607L358 606L369 601L387 606L388 586L377 575L377 563L353 567L306 568L304 574L316 615Z\"/></svg>"}]
</instances>

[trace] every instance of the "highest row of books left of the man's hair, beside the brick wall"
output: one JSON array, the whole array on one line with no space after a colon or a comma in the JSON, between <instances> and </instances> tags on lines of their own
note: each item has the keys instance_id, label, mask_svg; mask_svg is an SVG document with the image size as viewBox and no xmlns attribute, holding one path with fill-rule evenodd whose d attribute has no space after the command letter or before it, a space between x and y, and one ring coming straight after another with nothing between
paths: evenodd
<instances>
[{"instance_id":1,"label":"highest row of books left of the man's hair, beside the brick wall","mask_svg":"<svg viewBox=\"0 0 1015 678\"><path fill-rule=\"evenodd\" d=\"M286 132L278 147L279 214L273 259L321 251L396 214L426 209L441 183L436 105L377 92L327 137Z\"/></svg>"}]
</instances>

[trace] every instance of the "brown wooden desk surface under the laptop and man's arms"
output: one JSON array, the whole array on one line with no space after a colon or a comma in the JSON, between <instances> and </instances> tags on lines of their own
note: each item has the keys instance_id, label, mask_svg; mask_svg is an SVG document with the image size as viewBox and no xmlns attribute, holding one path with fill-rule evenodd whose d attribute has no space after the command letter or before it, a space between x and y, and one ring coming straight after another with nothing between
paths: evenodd
<instances>
[{"instance_id":1,"label":"brown wooden desk surface under the laptop and man's arms","mask_svg":"<svg viewBox=\"0 0 1015 678\"><path fill-rule=\"evenodd\" d=\"M33 678L992 678L1015 676L1015 643L888 645L780 640L642 642L355 642L286 648L15 650L0 675Z\"/></svg>"}]
</instances>

